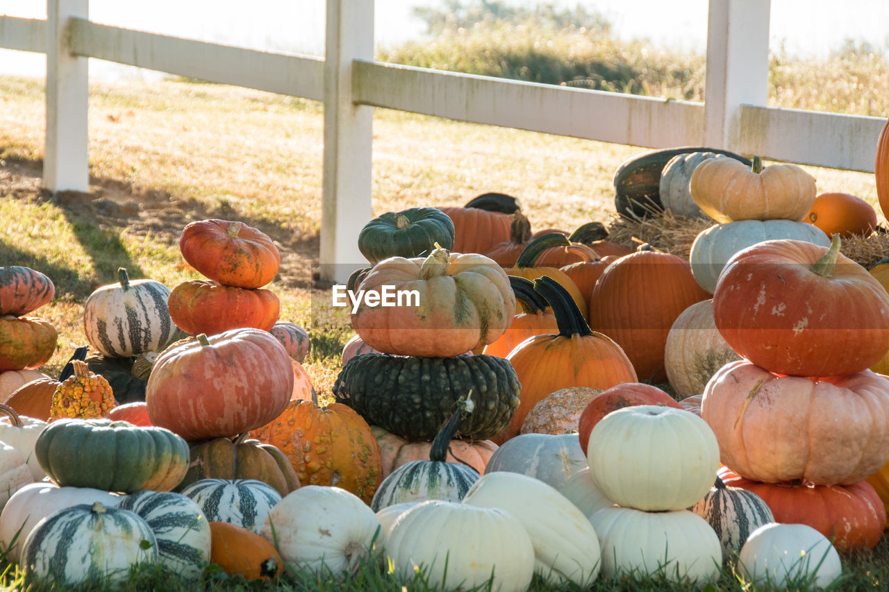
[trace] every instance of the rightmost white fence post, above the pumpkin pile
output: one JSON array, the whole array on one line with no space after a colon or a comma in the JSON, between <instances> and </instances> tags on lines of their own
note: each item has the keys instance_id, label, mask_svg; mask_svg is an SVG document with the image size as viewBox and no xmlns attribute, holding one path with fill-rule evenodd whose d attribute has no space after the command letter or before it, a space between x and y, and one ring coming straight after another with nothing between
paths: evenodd
<instances>
[{"instance_id":1,"label":"rightmost white fence post, above the pumpkin pile","mask_svg":"<svg viewBox=\"0 0 889 592\"><path fill-rule=\"evenodd\" d=\"M765 107L771 0L710 0L704 144L737 150L741 105Z\"/></svg>"}]
</instances>

